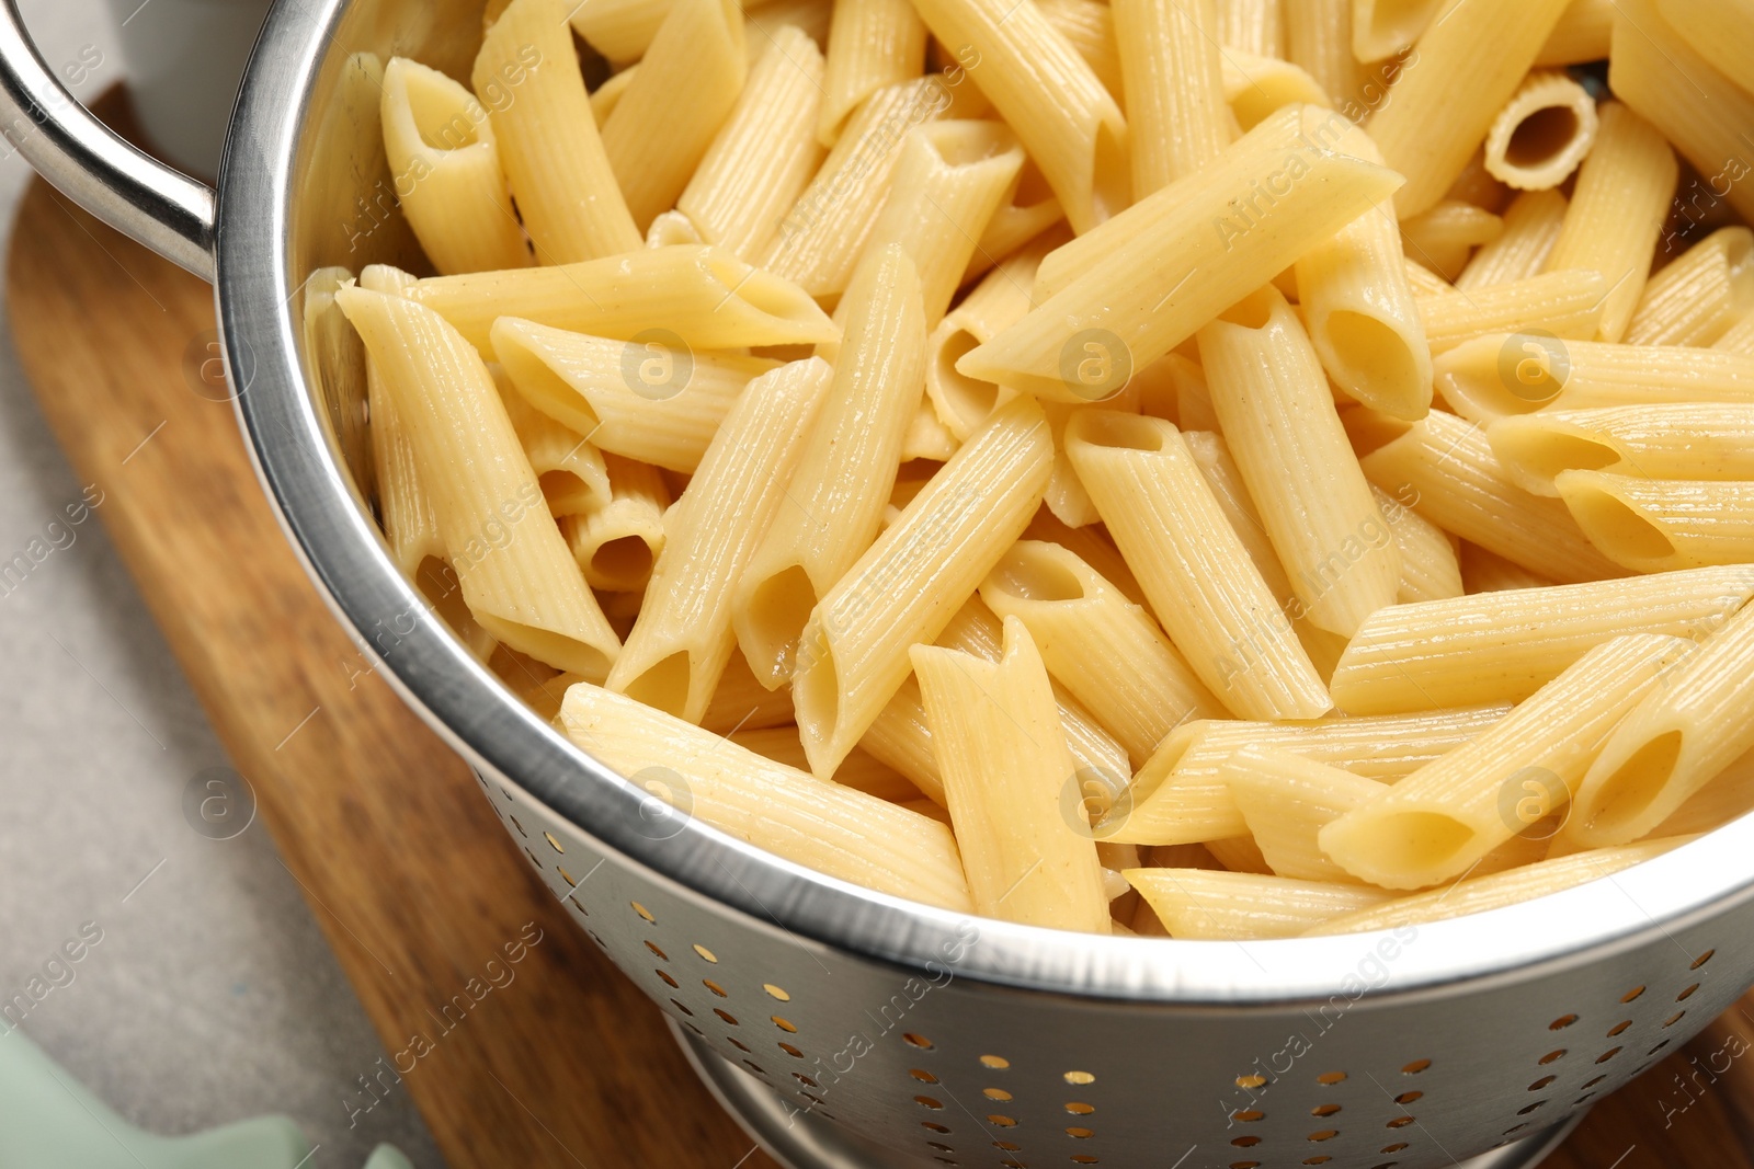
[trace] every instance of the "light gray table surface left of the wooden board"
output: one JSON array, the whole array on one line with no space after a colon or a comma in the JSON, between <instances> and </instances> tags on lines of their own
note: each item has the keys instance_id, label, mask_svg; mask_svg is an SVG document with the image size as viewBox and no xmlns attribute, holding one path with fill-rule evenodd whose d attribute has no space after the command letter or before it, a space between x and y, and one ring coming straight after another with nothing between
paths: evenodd
<instances>
[{"instance_id":1,"label":"light gray table surface left of the wooden board","mask_svg":"<svg viewBox=\"0 0 1754 1169\"><path fill-rule=\"evenodd\" d=\"M100 0L23 7L51 65L102 54L79 96L125 75ZM7 238L26 179L0 161ZM82 484L0 326L9 559ZM179 1134L286 1113L317 1144L312 1169L356 1169L379 1141L440 1165L407 1095L349 1123L382 1048L267 831L212 841L184 820L184 787L225 752L102 526L74 533L0 585L0 1001L96 922L102 941L23 1029L130 1122Z\"/></svg>"}]
</instances>

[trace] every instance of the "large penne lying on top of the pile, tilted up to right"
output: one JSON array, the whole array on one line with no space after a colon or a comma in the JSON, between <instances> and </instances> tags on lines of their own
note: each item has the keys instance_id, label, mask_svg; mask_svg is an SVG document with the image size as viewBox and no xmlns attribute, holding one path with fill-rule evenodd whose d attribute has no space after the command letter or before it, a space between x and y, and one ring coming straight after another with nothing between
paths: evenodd
<instances>
[{"instance_id":1,"label":"large penne lying on top of the pile, tilted up to right","mask_svg":"<svg viewBox=\"0 0 1754 1169\"><path fill-rule=\"evenodd\" d=\"M1045 300L1038 291L1037 308L956 368L1052 401L1105 398L1124 386L1110 372L1151 365L1394 189L1382 166L1316 145L1344 131L1331 110L1312 110L1316 138L1305 137L1307 109L1270 117L1135 205L1131 230L1079 249L1102 259Z\"/></svg>"}]
</instances>

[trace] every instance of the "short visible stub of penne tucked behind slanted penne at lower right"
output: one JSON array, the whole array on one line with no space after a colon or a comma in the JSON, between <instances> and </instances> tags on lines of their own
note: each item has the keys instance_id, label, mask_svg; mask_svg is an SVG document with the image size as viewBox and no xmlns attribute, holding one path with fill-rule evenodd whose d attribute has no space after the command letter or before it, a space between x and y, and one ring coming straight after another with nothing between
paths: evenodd
<instances>
[{"instance_id":1,"label":"short visible stub of penne tucked behind slanted penne at lower right","mask_svg":"<svg viewBox=\"0 0 1754 1169\"><path fill-rule=\"evenodd\" d=\"M1307 882L1356 880L1321 850L1316 834L1380 794L1380 782L1263 747L1244 747L1226 759L1219 778L1273 873Z\"/></svg>"}]
</instances>

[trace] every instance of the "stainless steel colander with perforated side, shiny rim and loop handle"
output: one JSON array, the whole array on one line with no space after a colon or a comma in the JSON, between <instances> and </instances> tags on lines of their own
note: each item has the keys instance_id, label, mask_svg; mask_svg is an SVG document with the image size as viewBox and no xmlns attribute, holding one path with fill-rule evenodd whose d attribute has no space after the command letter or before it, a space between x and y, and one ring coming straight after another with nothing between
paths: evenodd
<instances>
[{"instance_id":1,"label":"stainless steel colander with perforated side, shiny rim and loop handle","mask_svg":"<svg viewBox=\"0 0 1754 1169\"><path fill-rule=\"evenodd\" d=\"M1554 1132L1754 978L1754 820L1547 897L1387 934L1187 943L961 918L800 869L652 797L500 687L370 519L360 352L324 265L409 263L374 63L467 75L481 0L279 0L217 196L60 89L12 0L0 116L44 175L214 280L239 412L337 617L705 1078L798 1165L1452 1165ZM386 750L391 750L386 745Z\"/></svg>"}]
</instances>

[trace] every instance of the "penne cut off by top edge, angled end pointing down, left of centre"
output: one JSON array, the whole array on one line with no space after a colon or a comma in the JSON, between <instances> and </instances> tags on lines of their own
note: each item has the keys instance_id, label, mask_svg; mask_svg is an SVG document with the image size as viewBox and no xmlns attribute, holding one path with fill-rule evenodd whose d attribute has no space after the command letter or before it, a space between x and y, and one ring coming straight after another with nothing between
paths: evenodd
<instances>
[{"instance_id":1,"label":"penne cut off by top edge, angled end pointing down, left of centre","mask_svg":"<svg viewBox=\"0 0 1754 1169\"><path fill-rule=\"evenodd\" d=\"M747 72L737 0L672 2L638 75L603 119L603 152L640 231L675 205Z\"/></svg>"}]
</instances>

